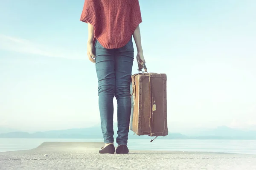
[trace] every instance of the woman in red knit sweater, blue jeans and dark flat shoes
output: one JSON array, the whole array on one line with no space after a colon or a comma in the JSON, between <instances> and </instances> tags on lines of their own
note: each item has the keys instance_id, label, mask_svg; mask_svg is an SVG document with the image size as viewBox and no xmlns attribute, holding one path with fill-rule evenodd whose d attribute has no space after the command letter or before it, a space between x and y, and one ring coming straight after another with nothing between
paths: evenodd
<instances>
[{"instance_id":1,"label":"woman in red knit sweater, blue jeans and dark flat shoes","mask_svg":"<svg viewBox=\"0 0 256 170\"><path fill-rule=\"evenodd\" d=\"M96 63L99 112L105 146L99 153L128 153L131 115L130 83L134 60L145 63L140 38L142 22L138 0L85 0L80 20L88 23L87 56ZM113 142L113 97L117 100L118 130Z\"/></svg>"}]
</instances>

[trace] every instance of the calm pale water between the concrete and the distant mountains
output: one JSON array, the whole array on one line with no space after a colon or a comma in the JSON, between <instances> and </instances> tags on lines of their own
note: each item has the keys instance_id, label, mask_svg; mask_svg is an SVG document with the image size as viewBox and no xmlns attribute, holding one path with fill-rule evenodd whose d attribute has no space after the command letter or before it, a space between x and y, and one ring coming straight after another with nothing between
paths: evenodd
<instances>
[{"instance_id":1,"label":"calm pale water between the concrete and the distant mountains","mask_svg":"<svg viewBox=\"0 0 256 170\"><path fill-rule=\"evenodd\" d=\"M102 139L21 139L0 138L0 152L29 150L43 142L102 142ZM129 139L131 150L206 151L256 154L256 140L168 140Z\"/></svg>"}]
</instances>

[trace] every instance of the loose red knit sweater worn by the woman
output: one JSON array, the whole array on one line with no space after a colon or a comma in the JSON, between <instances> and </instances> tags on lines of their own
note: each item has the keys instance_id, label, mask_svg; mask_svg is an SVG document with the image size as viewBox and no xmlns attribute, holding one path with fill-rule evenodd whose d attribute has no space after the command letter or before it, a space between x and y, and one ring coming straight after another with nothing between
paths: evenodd
<instances>
[{"instance_id":1,"label":"loose red knit sweater worn by the woman","mask_svg":"<svg viewBox=\"0 0 256 170\"><path fill-rule=\"evenodd\" d=\"M139 0L85 0L80 20L94 26L94 42L123 47L142 22Z\"/></svg>"}]
</instances>

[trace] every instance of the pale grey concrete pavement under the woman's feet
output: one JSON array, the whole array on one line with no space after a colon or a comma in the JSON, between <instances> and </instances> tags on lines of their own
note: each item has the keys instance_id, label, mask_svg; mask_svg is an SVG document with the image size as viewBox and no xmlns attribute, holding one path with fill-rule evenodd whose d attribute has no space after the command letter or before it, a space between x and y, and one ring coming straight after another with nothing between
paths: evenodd
<instances>
[{"instance_id":1,"label":"pale grey concrete pavement under the woman's feet","mask_svg":"<svg viewBox=\"0 0 256 170\"><path fill-rule=\"evenodd\" d=\"M102 155L98 150L103 145L45 142L32 150L3 152L0 170L256 170L256 155L139 150Z\"/></svg>"}]
</instances>

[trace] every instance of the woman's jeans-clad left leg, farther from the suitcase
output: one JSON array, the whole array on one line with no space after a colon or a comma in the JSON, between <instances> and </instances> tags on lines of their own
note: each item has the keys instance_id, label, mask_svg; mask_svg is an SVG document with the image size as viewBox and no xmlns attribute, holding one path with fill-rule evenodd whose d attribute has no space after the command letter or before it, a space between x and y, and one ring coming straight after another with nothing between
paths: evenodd
<instances>
[{"instance_id":1,"label":"woman's jeans-clad left leg, farther from the suitcase","mask_svg":"<svg viewBox=\"0 0 256 170\"><path fill-rule=\"evenodd\" d=\"M95 44L98 77L99 112L104 142L113 143L113 97L115 93L115 62L113 50Z\"/></svg>"}]
</instances>

